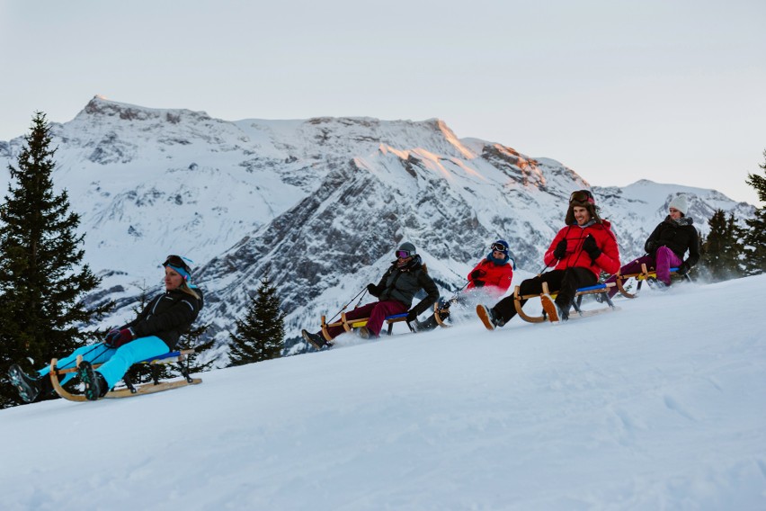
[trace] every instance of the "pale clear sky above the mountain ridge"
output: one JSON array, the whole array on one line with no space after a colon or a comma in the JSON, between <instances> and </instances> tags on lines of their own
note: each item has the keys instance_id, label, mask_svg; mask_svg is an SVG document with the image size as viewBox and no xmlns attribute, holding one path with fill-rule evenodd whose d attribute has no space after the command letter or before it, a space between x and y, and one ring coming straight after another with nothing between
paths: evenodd
<instances>
[{"instance_id":1,"label":"pale clear sky above the mountain ridge","mask_svg":"<svg viewBox=\"0 0 766 511\"><path fill-rule=\"evenodd\" d=\"M763 0L0 0L0 140L95 94L227 121L437 117L593 185L756 204L764 27Z\"/></svg>"}]
</instances>

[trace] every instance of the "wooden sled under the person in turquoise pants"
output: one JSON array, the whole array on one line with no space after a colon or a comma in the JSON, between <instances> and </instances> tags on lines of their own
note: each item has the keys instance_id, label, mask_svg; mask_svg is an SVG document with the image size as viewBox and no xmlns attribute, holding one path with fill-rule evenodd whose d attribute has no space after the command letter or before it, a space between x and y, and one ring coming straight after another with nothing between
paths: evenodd
<instances>
[{"instance_id":1,"label":"wooden sled under the person in turquoise pants","mask_svg":"<svg viewBox=\"0 0 766 511\"><path fill-rule=\"evenodd\" d=\"M153 394L155 392L162 392L163 390L171 390L176 389L178 387L186 387L187 385L197 385L202 382L200 378L191 378L189 376L189 359L188 355L193 354L193 349L188 350L181 350L176 352L171 352L167 354L162 354L156 357L147 358L147 360L143 360L138 363L144 363L149 365L152 368L152 381L149 381L147 383L144 383L142 385L134 385L132 381L130 381L128 375L126 374L122 381L125 383L125 388L121 388L118 390L111 390L106 393L104 398L109 399L116 399L116 398L130 398L133 396L140 396L142 394ZM53 359L50 361L50 381L53 384L53 389L56 390L56 393L61 396L64 399L69 399L70 401L86 401L87 398L85 398L85 395L83 394L73 394L71 392L68 392L65 390L61 384L58 382L58 375L59 374L66 374L67 372L77 372L77 367L80 365L80 362L82 362L82 357L77 357L77 363L76 366L72 369L61 369L59 370L56 364L58 363L58 359ZM183 375L183 380L174 380L174 381L159 381L159 365L165 364L165 363L177 363L178 368L181 370L181 373ZM185 364L184 364L185 363ZM94 364L94 368L100 367L102 364Z\"/></svg>"}]
</instances>

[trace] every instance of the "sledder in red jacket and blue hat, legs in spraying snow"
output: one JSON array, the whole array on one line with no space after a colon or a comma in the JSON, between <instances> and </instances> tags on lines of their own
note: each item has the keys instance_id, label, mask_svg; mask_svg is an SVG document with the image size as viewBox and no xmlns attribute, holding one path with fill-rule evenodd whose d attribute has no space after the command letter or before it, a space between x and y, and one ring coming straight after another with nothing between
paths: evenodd
<instances>
[{"instance_id":1,"label":"sledder in red jacket and blue hat, legs in spraying snow","mask_svg":"<svg viewBox=\"0 0 766 511\"><path fill-rule=\"evenodd\" d=\"M489 295L495 300L500 298L511 287L513 270L515 269L516 263L511 256L508 242L504 239L498 239L489 247L489 254L479 261L471 273L468 273L468 284L465 291L456 294L443 304L440 303L438 311L435 311L424 321L417 323L417 329L431 330L437 327L440 320L443 321L450 317L450 307L453 303L466 304L470 301L468 297L472 294L481 294L484 297ZM437 314L439 320L436 318Z\"/></svg>"}]
</instances>

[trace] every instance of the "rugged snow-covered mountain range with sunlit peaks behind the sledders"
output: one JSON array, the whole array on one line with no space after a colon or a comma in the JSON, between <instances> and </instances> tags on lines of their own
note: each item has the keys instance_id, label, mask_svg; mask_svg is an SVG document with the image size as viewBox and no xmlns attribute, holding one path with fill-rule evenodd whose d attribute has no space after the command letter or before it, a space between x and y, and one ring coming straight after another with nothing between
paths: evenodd
<instances>
[{"instance_id":1,"label":"rugged snow-covered mountain range with sunlit peaks behind the sledders","mask_svg":"<svg viewBox=\"0 0 766 511\"><path fill-rule=\"evenodd\" d=\"M591 186L556 160L458 139L436 119L222 121L94 97L74 120L52 123L52 134L54 182L82 215L86 262L103 277L93 300L118 302L105 324L130 318L142 288L159 291L165 255L186 255L219 353L267 269L296 337L377 282L403 240L443 294L462 286L496 238L510 242L519 280L539 272L576 189L592 189L625 261L640 255L676 193L689 197L703 234L716 209L753 214L680 184ZM22 141L0 142L0 160L15 165Z\"/></svg>"}]
</instances>

